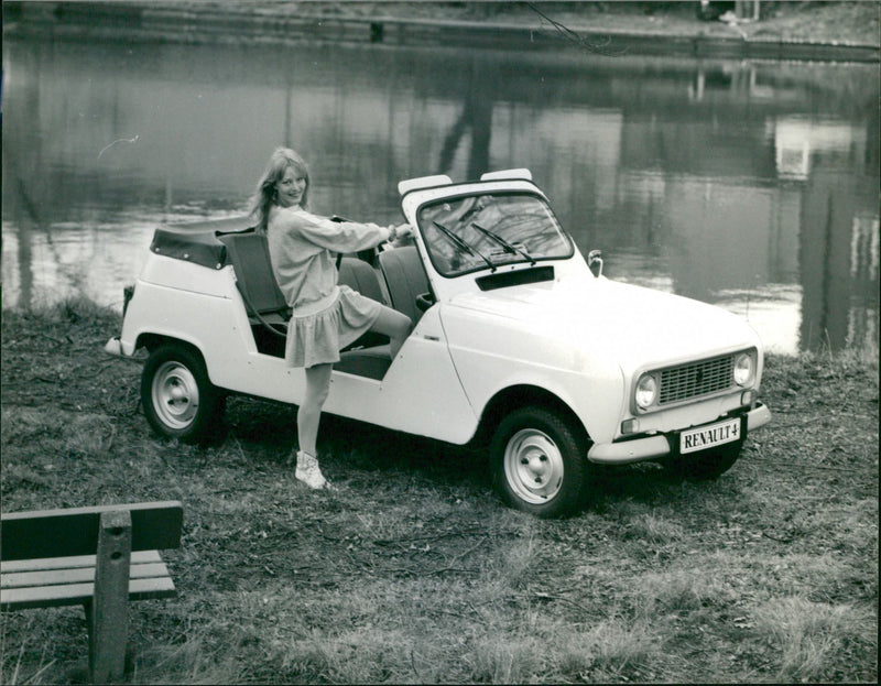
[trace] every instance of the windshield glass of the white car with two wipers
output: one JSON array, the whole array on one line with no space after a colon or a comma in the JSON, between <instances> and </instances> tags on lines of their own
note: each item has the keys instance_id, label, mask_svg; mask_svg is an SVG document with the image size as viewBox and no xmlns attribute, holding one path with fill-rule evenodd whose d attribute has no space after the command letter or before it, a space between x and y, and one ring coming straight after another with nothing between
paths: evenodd
<instances>
[{"instance_id":1,"label":"windshield glass of the white car with two wipers","mask_svg":"<svg viewBox=\"0 0 881 686\"><path fill-rule=\"evenodd\" d=\"M529 193L493 193L431 203L417 220L432 263L444 276L502 264L572 257L547 203Z\"/></svg>"}]
</instances>

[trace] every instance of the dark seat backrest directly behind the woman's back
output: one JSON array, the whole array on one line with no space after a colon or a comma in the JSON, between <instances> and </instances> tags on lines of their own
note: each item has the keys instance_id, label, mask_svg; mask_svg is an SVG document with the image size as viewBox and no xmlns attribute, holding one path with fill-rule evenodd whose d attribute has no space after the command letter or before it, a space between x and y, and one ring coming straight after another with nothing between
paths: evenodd
<instances>
[{"instance_id":1,"label":"dark seat backrest directly behind the woman's back","mask_svg":"<svg viewBox=\"0 0 881 686\"><path fill-rule=\"evenodd\" d=\"M243 294L248 314L285 312L287 303L275 281L269 257L269 243L263 233L227 233L218 240L227 247L227 259L236 270L238 286Z\"/></svg>"}]
</instances>

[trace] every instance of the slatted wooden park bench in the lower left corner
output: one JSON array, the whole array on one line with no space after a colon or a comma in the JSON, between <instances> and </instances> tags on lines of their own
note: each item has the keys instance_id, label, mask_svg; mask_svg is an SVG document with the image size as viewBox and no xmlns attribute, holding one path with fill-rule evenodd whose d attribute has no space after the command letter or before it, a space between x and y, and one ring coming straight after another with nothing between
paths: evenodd
<instances>
[{"instance_id":1,"label":"slatted wooden park bench in the lower left corner","mask_svg":"<svg viewBox=\"0 0 881 686\"><path fill-rule=\"evenodd\" d=\"M128 601L176 595L159 551L181 546L177 501L0 516L0 609L81 605L89 676L119 679L126 665Z\"/></svg>"}]
</instances>

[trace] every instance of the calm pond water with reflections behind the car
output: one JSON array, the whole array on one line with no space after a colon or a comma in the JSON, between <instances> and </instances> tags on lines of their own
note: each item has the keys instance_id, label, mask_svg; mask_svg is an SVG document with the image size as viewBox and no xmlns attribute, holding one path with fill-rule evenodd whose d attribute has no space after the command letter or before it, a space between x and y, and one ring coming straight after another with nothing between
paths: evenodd
<instances>
[{"instance_id":1,"label":"calm pond water with reflections behind the car","mask_svg":"<svg viewBox=\"0 0 881 686\"><path fill-rule=\"evenodd\" d=\"M879 320L878 65L494 46L3 42L3 307L121 307L157 224L240 214L272 150L318 213L529 167L606 274L715 303L782 353Z\"/></svg>"}]
</instances>

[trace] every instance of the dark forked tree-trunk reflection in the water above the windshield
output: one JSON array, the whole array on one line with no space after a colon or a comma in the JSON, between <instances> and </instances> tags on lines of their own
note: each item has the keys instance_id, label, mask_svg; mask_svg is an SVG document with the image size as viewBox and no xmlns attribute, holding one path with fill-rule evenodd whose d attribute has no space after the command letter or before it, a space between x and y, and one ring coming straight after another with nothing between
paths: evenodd
<instances>
[{"instance_id":1,"label":"dark forked tree-trunk reflection in the water above the windshield","mask_svg":"<svg viewBox=\"0 0 881 686\"><path fill-rule=\"evenodd\" d=\"M465 91L465 106L461 115L453 124L438 161L439 173L446 173L453 166L453 157L466 131L471 133L471 150L468 154L468 178L479 178L489 170L489 143L492 133L492 106L494 100L493 85L499 74L493 64L474 59L469 64L468 87Z\"/></svg>"}]
</instances>

